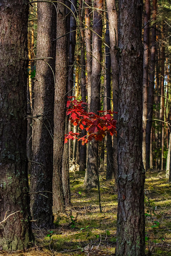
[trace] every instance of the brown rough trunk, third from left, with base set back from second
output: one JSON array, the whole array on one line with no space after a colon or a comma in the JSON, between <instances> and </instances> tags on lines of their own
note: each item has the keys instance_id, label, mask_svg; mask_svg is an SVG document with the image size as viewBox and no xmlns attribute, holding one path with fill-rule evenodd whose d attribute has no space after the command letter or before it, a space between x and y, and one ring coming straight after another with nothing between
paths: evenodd
<instances>
[{"instance_id":1,"label":"brown rough trunk, third from left, with base set back from second","mask_svg":"<svg viewBox=\"0 0 171 256\"><path fill-rule=\"evenodd\" d=\"M61 1L65 4L64 0ZM55 102L54 102L54 170L53 170L53 212L65 209L64 190L62 187L62 157L64 152L64 134L66 118L66 92L68 71L67 20L66 7L57 5L56 25L56 70L55 70Z\"/></svg>"}]
</instances>

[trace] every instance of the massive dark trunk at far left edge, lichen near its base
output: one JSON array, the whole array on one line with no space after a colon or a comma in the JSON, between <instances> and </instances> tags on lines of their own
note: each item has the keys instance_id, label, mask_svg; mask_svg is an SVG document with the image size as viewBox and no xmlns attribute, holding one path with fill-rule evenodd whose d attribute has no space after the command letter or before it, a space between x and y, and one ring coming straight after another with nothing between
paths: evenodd
<instances>
[{"instance_id":1,"label":"massive dark trunk at far left edge, lichen near its base","mask_svg":"<svg viewBox=\"0 0 171 256\"><path fill-rule=\"evenodd\" d=\"M0 3L0 250L23 250L32 241L27 134L26 0Z\"/></svg>"}]
</instances>

